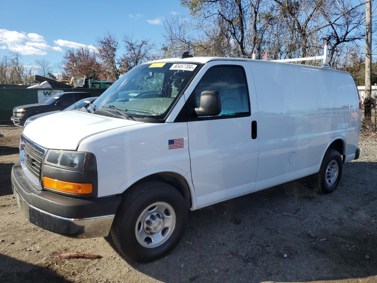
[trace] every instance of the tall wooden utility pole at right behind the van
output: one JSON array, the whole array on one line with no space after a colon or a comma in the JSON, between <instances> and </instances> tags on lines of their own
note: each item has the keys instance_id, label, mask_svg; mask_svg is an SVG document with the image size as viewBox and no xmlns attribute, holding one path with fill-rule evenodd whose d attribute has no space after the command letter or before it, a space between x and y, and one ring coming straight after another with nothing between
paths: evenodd
<instances>
[{"instance_id":1,"label":"tall wooden utility pole at right behind the van","mask_svg":"<svg viewBox=\"0 0 377 283\"><path fill-rule=\"evenodd\" d=\"M365 27L365 96L364 115L367 122L372 116L372 2L365 3L366 27Z\"/></svg>"}]
</instances>

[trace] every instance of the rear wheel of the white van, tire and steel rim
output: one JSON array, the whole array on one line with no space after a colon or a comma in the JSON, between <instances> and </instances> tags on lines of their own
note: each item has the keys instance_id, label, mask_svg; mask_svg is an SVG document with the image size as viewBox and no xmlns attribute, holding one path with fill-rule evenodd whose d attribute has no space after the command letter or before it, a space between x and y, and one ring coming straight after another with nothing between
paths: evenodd
<instances>
[{"instance_id":1,"label":"rear wheel of the white van, tire and steel rim","mask_svg":"<svg viewBox=\"0 0 377 283\"><path fill-rule=\"evenodd\" d=\"M323 157L319 172L311 175L313 189L322 194L333 192L342 177L343 160L339 151L328 149Z\"/></svg>"}]
</instances>

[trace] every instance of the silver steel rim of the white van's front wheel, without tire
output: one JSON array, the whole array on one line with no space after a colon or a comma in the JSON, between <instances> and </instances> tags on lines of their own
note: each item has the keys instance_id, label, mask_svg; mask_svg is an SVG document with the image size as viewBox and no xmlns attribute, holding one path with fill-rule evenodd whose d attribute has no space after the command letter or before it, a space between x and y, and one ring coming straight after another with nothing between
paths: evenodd
<instances>
[{"instance_id":1,"label":"silver steel rim of the white van's front wheel, without tire","mask_svg":"<svg viewBox=\"0 0 377 283\"><path fill-rule=\"evenodd\" d=\"M156 202L141 212L135 225L138 243L144 248L156 248L169 239L175 228L175 211L166 202Z\"/></svg>"}]
</instances>

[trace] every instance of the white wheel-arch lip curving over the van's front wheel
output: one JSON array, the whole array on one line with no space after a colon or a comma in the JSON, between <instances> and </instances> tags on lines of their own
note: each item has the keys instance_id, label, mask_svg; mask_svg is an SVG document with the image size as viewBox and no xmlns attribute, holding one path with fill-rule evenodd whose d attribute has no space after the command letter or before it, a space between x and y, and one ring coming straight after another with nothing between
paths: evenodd
<instances>
[{"instance_id":1,"label":"white wheel-arch lip curving over the van's front wheel","mask_svg":"<svg viewBox=\"0 0 377 283\"><path fill-rule=\"evenodd\" d=\"M187 185L189 186L190 197L191 197L191 200L192 200L192 207L190 208L190 210L195 210L197 208L197 206L196 206L196 195L195 195L194 185L192 183L191 171L187 173L187 172L184 172L181 169L175 168L175 167L169 167L169 166L156 167L156 168L152 168L152 169L140 172L139 174L133 176L132 178L127 180L125 183L123 183L123 185L121 185L120 188L118 189L118 194L122 194L128 188L130 188L133 184L135 184L137 181L139 181L143 178L149 177L153 174L166 173L166 172L176 173L176 174L178 174L178 175L180 175L181 177L184 178Z\"/></svg>"}]
</instances>

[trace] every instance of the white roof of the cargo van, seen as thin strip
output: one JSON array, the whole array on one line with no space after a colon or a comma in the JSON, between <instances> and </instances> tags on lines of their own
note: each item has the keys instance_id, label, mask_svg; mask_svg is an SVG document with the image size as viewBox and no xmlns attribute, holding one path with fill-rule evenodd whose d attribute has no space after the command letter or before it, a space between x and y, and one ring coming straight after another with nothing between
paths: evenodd
<instances>
[{"instance_id":1,"label":"white roof of the cargo van, seen as thin strip","mask_svg":"<svg viewBox=\"0 0 377 283\"><path fill-rule=\"evenodd\" d=\"M304 64L297 64L297 63L289 63L289 62L279 62L279 61L273 61L273 60L257 60L257 59L248 59L248 58L229 58L229 57L188 57L188 58L167 58L167 59L159 59L154 61L149 61L144 64L149 63L158 63L158 62L182 62L182 63L208 63L210 61L216 61L216 60L227 60L227 61L249 61L249 62L259 62L263 64L280 64L280 65L288 65L288 66L308 66L310 68L316 68L320 70L329 70L329 71L336 71L336 72L343 72L348 73L345 71L340 71L336 69L330 69L330 68L322 68L319 66L311 66L311 65L304 65Z\"/></svg>"}]
</instances>

